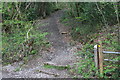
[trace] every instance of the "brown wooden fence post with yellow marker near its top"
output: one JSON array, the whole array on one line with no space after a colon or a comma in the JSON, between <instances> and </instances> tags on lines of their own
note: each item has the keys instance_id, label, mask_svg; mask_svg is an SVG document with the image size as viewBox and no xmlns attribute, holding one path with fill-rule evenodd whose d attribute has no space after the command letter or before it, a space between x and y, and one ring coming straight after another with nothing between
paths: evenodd
<instances>
[{"instance_id":1,"label":"brown wooden fence post with yellow marker near its top","mask_svg":"<svg viewBox=\"0 0 120 80\"><path fill-rule=\"evenodd\" d=\"M103 76L103 53L102 53L102 44L98 45L98 55L99 55L99 70L100 70L100 75Z\"/></svg>"}]
</instances>

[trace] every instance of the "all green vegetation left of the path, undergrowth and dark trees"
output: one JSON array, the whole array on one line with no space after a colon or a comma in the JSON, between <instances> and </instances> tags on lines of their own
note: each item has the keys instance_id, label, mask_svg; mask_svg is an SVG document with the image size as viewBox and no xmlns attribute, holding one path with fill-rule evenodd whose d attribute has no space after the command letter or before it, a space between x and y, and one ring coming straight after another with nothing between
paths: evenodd
<instances>
[{"instance_id":1,"label":"all green vegetation left of the path, undergrowth and dark trees","mask_svg":"<svg viewBox=\"0 0 120 80\"><path fill-rule=\"evenodd\" d=\"M40 48L49 47L45 38L48 33L38 29L36 19L55 11L55 3L9 2L1 5L4 64L29 59L28 56L37 54Z\"/></svg>"}]
</instances>

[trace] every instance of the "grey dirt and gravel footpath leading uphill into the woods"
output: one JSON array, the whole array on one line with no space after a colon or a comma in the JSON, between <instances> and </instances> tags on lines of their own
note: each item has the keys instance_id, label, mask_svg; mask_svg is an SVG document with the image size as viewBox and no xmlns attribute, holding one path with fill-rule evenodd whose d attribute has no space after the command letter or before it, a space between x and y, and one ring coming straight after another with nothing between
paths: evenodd
<instances>
[{"instance_id":1,"label":"grey dirt and gravel footpath leading uphill into the woods","mask_svg":"<svg viewBox=\"0 0 120 80\"><path fill-rule=\"evenodd\" d=\"M68 28L59 22L64 15L64 11L60 10L50 17L38 21L37 24L46 24L38 26L40 30L50 33L46 37L52 45L51 50L40 52L37 57L30 60L28 64L22 65L23 62L16 62L7 66L3 66L3 78L68 78L71 77L68 69L58 70L56 68L45 68L44 64L54 64L57 66L73 65L77 56L74 51L79 46L70 46L71 40ZM63 32L67 34L62 34ZM20 67L22 65L22 67Z\"/></svg>"}]
</instances>

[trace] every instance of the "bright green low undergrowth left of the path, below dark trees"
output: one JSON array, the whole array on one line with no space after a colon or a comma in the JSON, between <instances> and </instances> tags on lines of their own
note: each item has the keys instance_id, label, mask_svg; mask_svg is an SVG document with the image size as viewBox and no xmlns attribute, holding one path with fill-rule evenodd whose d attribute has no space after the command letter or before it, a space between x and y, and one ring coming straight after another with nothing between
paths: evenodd
<instances>
[{"instance_id":1,"label":"bright green low undergrowth left of the path, below dark trees","mask_svg":"<svg viewBox=\"0 0 120 80\"><path fill-rule=\"evenodd\" d=\"M10 25L10 22L3 23L3 26ZM26 61L29 55L37 54L40 48L50 46L45 39L48 33L40 32L33 22L17 21L11 24L16 28L9 34L2 33L3 64ZM24 28L18 28L18 25Z\"/></svg>"}]
</instances>

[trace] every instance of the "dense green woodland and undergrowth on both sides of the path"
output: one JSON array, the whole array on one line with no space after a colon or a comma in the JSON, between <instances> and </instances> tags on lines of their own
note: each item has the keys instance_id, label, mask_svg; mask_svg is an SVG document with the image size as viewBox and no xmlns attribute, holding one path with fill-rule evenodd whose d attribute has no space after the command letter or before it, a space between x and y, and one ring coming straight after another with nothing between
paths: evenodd
<instances>
[{"instance_id":1,"label":"dense green woodland and undergrowth on both sides of the path","mask_svg":"<svg viewBox=\"0 0 120 80\"><path fill-rule=\"evenodd\" d=\"M70 35L80 42L83 48L77 54L83 56L80 66L70 71L87 77L100 77L95 72L93 46L103 44L104 50L120 52L120 3L119 2L3 2L2 10L2 60L7 65L21 60L27 61L37 55L40 48L50 47L46 39L47 32L41 32L35 24L37 20L46 19L52 13L63 10L60 21L65 26L72 26ZM42 25L42 24L41 24ZM120 56L113 57L120 60ZM120 77L117 64L107 63L104 73L111 77ZM88 69L86 71L86 69ZM109 76L104 76L109 77Z\"/></svg>"}]
</instances>

